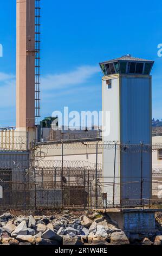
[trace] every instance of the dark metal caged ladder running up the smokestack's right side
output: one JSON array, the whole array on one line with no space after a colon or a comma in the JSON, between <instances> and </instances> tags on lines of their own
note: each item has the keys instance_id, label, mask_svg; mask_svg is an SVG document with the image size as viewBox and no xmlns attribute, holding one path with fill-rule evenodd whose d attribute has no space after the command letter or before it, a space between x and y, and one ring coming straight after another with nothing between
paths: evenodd
<instances>
[{"instance_id":1,"label":"dark metal caged ladder running up the smokestack's right side","mask_svg":"<svg viewBox=\"0 0 162 256\"><path fill-rule=\"evenodd\" d=\"M40 117L40 1L35 0L35 117Z\"/></svg>"}]
</instances>

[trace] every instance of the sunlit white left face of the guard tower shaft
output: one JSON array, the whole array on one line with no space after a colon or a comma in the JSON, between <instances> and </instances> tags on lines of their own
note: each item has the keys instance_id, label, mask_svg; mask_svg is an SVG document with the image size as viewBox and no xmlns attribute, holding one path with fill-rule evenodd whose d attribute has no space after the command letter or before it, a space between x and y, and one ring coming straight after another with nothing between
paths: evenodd
<instances>
[{"instance_id":1,"label":"sunlit white left face of the guard tower shaft","mask_svg":"<svg viewBox=\"0 0 162 256\"><path fill-rule=\"evenodd\" d=\"M111 77L102 78L102 111L103 111L103 141L120 141L120 124L119 124L119 78L118 76L112 78L111 88L108 88L106 80ZM108 116L109 115L109 116ZM110 120L109 120L110 117ZM110 122L110 123L109 123ZM105 126L110 127L105 130ZM114 143L113 143L114 144ZM113 200L113 177L114 177L114 158L115 149L103 149L103 176L104 178L104 192L107 193L108 201ZM115 184L120 182L120 151L116 150L115 161ZM120 202L120 186L115 185L114 193L115 202ZM111 202L109 202L111 203Z\"/></svg>"}]
</instances>

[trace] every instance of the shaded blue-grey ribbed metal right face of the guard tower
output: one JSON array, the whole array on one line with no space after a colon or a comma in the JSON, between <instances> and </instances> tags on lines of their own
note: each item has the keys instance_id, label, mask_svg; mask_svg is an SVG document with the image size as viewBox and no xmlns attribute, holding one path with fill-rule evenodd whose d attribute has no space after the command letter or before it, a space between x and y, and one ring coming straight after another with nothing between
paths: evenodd
<instances>
[{"instance_id":1,"label":"shaded blue-grey ribbed metal right face of the guard tower","mask_svg":"<svg viewBox=\"0 0 162 256\"><path fill-rule=\"evenodd\" d=\"M127 77L120 84L120 141L126 144L151 144L151 80L150 78ZM151 198L152 155L143 153L142 197ZM141 152L121 153L122 198L140 199ZM135 184L135 182L137 182Z\"/></svg>"}]
</instances>

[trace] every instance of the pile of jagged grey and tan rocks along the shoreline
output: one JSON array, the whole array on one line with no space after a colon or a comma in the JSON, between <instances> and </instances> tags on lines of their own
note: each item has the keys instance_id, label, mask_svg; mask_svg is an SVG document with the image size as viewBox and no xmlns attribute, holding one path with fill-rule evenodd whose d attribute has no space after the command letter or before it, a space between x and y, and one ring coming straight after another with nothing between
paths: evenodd
<instances>
[{"instance_id":1,"label":"pile of jagged grey and tan rocks along the shoreline","mask_svg":"<svg viewBox=\"0 0 162 256\"><path fill-rule=\"evenodd\" d=\"M68 211L59 216L0 216L1 245L129 245L133 239L139 236L125 234L96 212L82 216ZM161 245L161 241L162 236L156 236L154 245ZM148 237L141 237L139 243L153 245Z\"/></svg>"}]
</instances>

